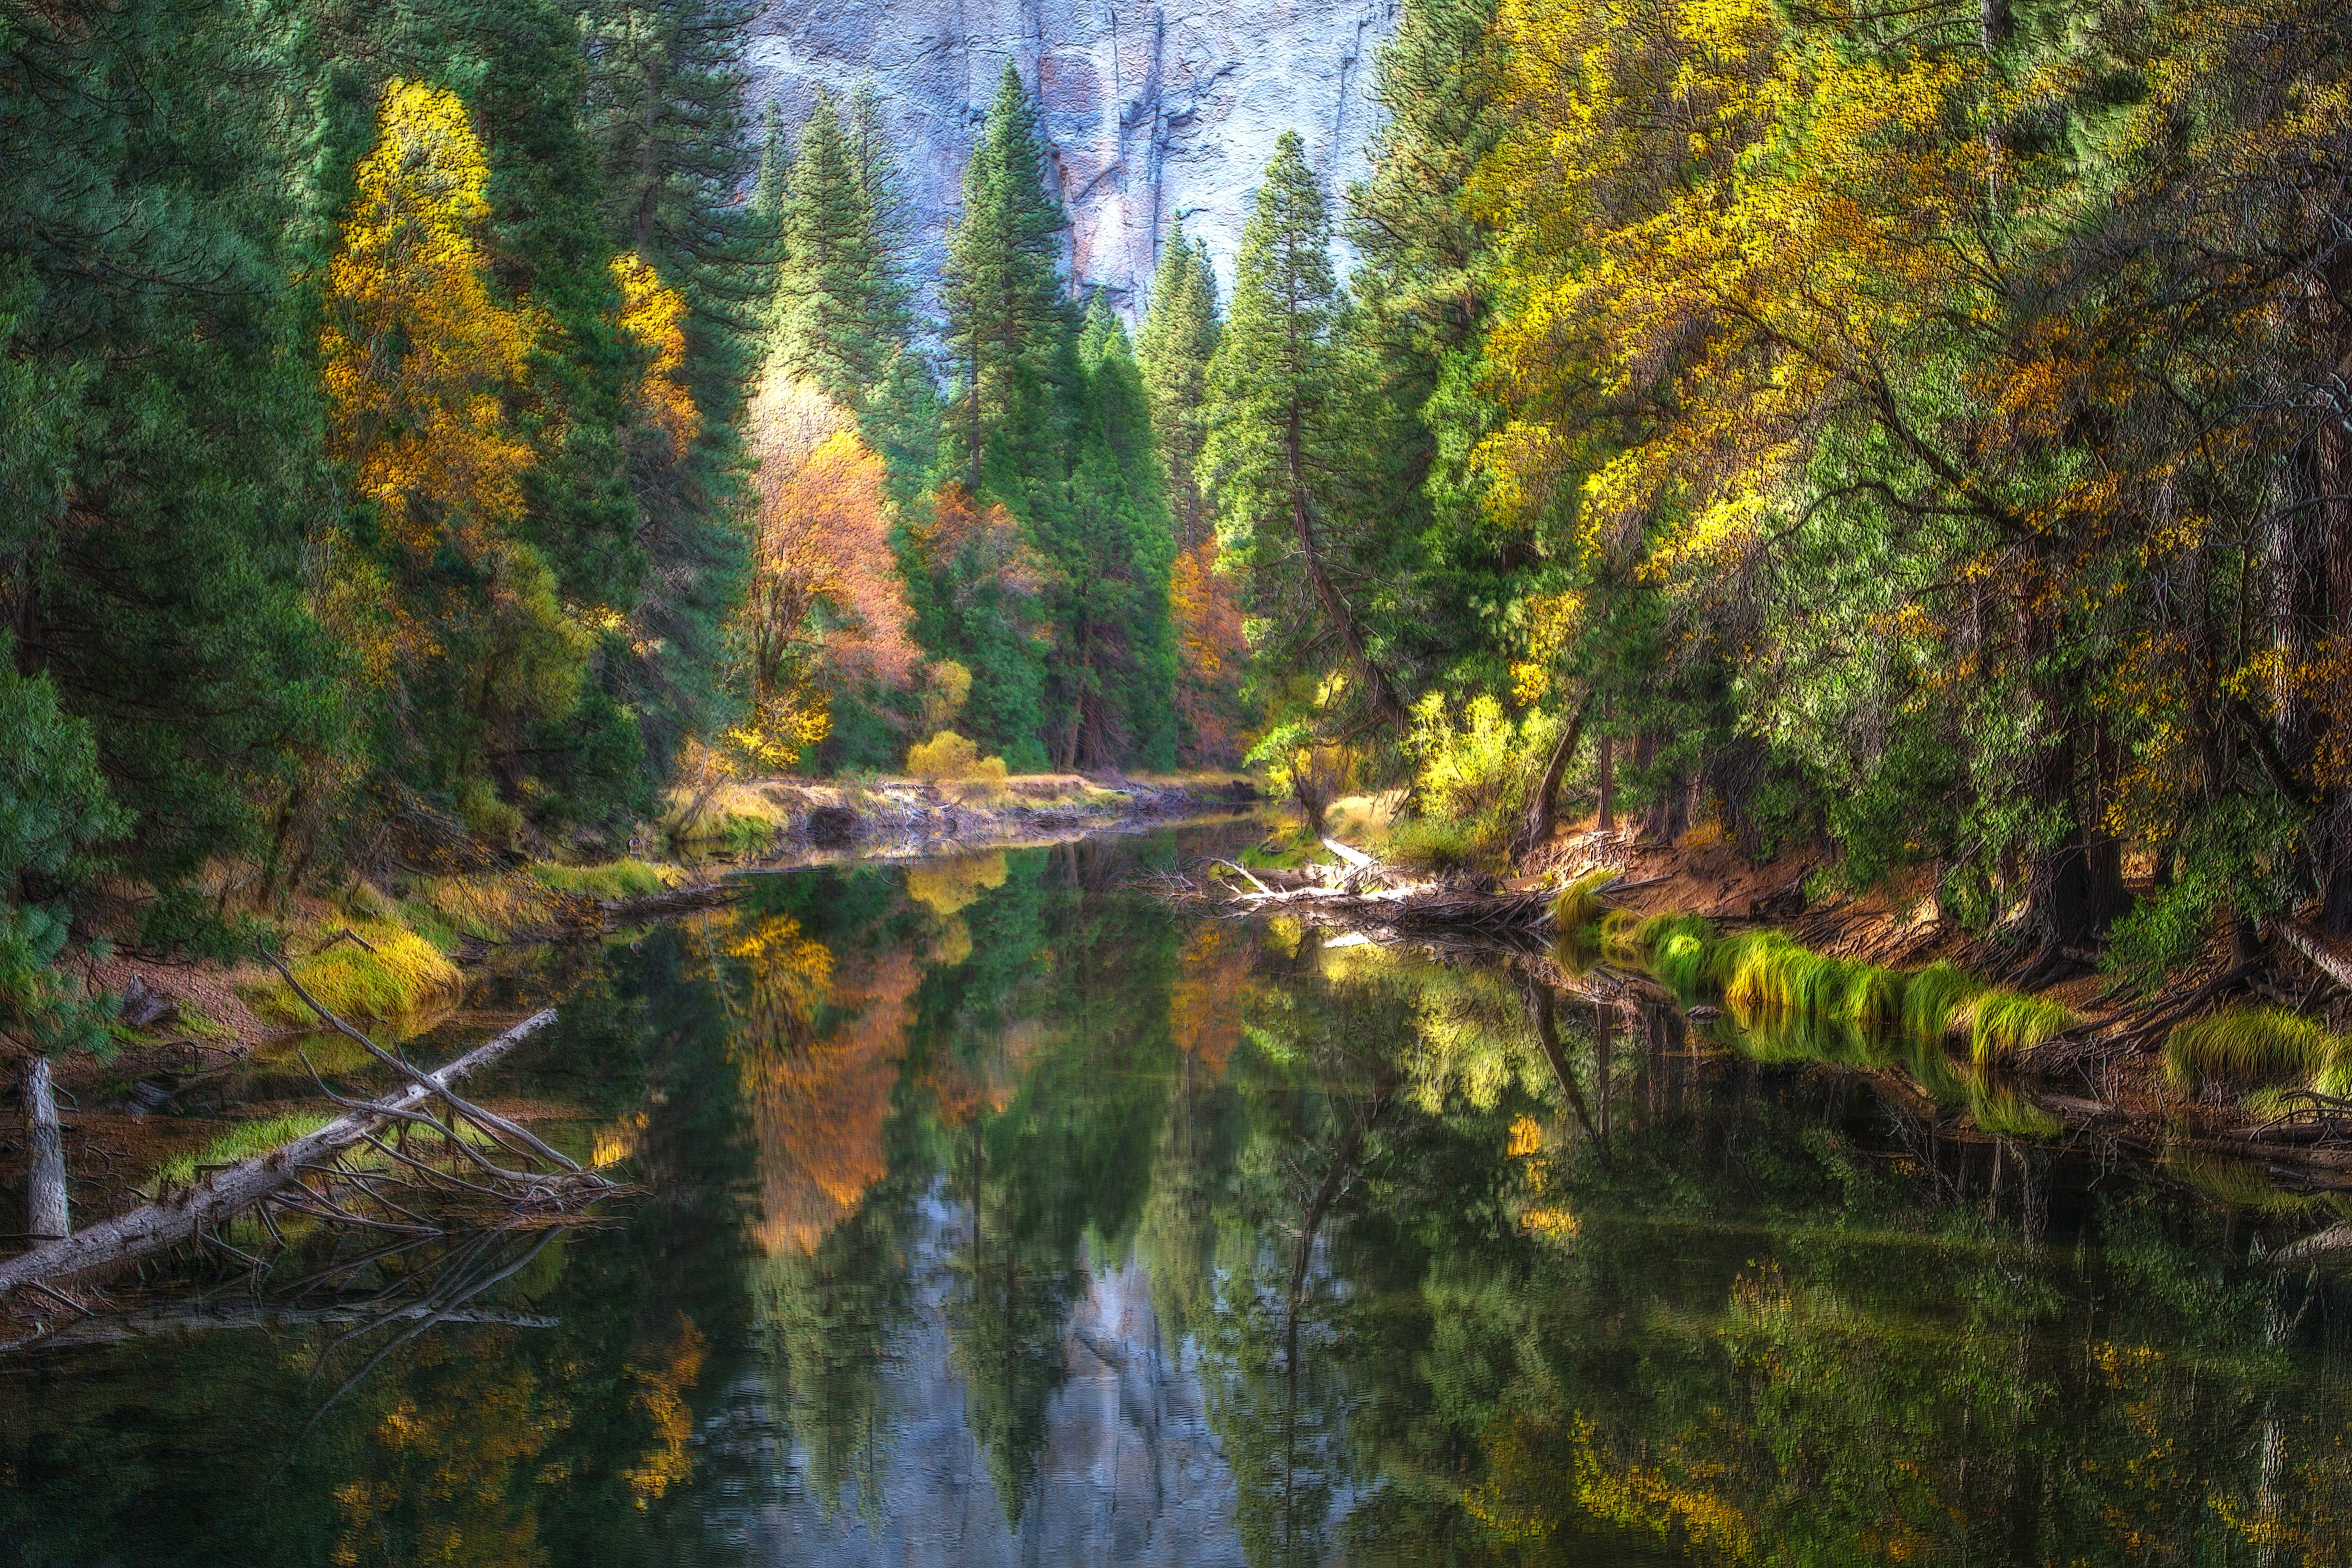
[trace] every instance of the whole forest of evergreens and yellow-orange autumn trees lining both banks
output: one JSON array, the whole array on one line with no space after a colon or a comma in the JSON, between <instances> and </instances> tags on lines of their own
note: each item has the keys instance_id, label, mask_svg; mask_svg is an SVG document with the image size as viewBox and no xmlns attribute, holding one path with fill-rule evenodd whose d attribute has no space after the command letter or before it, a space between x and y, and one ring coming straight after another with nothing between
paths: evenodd
<instances>
[{"instance_id":1,"label":"whole forest of evergreens and yellow-orange autumn trees lining both banks","mask_svg":"<svg viewBox=\"0 0 2352 1568\"><path fill-rule=\"evenodd\" d=\"M786 773L1806 849L2027 983L2352 929L2338 9L1414 0L1369 179L1284 134L1134 334L1018 68L924 277L755 9L0 14L19 1048Z\"/></svg>"}]
</instances>

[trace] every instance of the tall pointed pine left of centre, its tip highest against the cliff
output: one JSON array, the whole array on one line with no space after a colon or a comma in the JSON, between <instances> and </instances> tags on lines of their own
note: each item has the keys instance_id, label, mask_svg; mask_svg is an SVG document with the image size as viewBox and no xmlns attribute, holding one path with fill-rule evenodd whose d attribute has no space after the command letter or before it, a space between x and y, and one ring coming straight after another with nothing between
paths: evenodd
<instances>
[{"instance_id":1,"label":"tall pointed pine left of centre, its tip highest against the cliff","mask_svg":"<svg viewBox=\"0 0 2352 1568\"><path fill-rule=\"evenodd\" d=\"M948 237L943 280L946 336L962 376L960 468L974 494L985 489L997 437L1009 437L1014 489L1042 477L1040 451L1058 444L1049 425L1056 381L1068 386L1070 308L1056 266L1070 223L1044 172L1037 108L1007 61L988 127L964 165L964 212Z\"/></svg>"}]
</instances>

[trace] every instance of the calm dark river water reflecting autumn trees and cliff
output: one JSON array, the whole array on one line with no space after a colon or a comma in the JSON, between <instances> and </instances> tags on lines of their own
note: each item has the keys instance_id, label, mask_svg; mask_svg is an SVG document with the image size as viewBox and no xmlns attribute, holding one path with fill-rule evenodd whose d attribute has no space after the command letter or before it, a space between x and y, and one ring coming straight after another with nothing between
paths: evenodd
<instances>
[{"instance_id":1,"label":"calm dark river water reflecting autumn trees and cliff","mask_svg":"<svg viewBox=\"0 0 2352 1568\"><path fill-rule=\"evenodd\" d=\"M2324 1199L1129 886L1251 835L501 980L480 1093L637 1197L0 1359L0 1561L2352 1556L2352 1312L2253 1260Z\"/></svg>"}]
</instances>

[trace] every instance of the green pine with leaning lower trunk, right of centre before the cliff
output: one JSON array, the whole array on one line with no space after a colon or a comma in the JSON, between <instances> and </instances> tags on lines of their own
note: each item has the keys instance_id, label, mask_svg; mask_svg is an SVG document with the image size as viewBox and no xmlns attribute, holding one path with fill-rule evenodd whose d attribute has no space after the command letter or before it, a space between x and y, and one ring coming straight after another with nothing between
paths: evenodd
<instances>
[{"instance_id":1,"label":"green pine with leaning lower trunk, right of centre before the cliff","mask_svg":"<svg viewBox=\"0 0 2352 1568\"><path fill-rule=\"evenodd\" d=\"M1242 228L1232 313L1209 364L1204 456L1218 538L1249 571L1251 614L1291 644L1284 663L1303 668L1336 642L1355 701L1402 736L1411 715L1350 599L1364 578L1341 550L1350 475L1369 444L1357 440L1362 407L1334 336L1338 317L1322 181L1298 134L1282 132Z\"/></svg>"}]
</instances>

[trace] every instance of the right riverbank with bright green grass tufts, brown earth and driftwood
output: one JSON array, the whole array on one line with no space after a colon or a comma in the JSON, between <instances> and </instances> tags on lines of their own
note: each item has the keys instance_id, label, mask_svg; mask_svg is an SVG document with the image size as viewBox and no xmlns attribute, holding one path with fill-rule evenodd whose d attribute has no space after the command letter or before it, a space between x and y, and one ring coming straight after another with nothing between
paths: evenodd
<instances>
[{"instance_id":1,"label":"right riverbank with bright green grass tufts, brown earth and driftwood","mask_svg":"<svg viewBox=\"0 0 2352 1568\"><path fill-rule=\"evenodd\" d=\"M1331 825L1388 846L1362 804ZM1289 860L1345 858L1296 825L1277 837ZM1498 952L1526 961L1529 943L1552 945L1541 964L1557 959L1559 983L1628 1011L1665 1006L1703 1048L1719 1037L1776 1063L1872 1074L1987 1135L2096 1133L2150 1157L2230 1157L2256 1173L2274 1166L2288 1185L2352 1192L2352 999L2340 983L2352 954L2310 924L2274 922L2251 952L2216 938L2164 985L2133 990L2096 952L1964 931L1924 877L1825 898L1823 865L1804 853L1750 865L1705 839L1588 825L1555 835L1508 879L1414 891L1397 867L1334 863L1329 891L1305 870L1282 884L1303 882L1303 893L1240 891L1240 875L1232 886L1242 903L1275 912L1279 900L1279 912L1381 940L1428 945L1435 929L1446 950L1517 922ZM1611 978L1625 971L1646 978Z\"/></svg>"}]
</instances>

